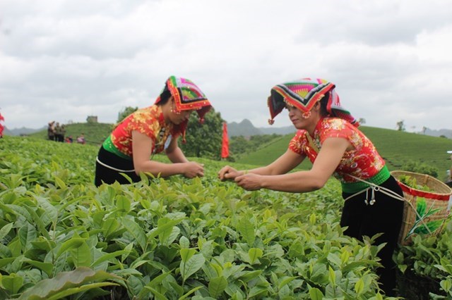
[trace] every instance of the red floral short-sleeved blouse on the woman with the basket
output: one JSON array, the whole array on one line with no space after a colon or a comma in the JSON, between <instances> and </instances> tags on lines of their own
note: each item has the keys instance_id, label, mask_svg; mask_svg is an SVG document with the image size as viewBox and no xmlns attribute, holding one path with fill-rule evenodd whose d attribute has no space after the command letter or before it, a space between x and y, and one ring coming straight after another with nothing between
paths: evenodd
<instances>
[{"instance_id":1,"label":"red floral short-sleeved blouse on the woman with the basket","mask_svg":"<svg viewBox=\"0 0 452 300\"><path fill-rule=\"evenodd\" d=\"M304 157L307 156L311 163L314 163L323 142L329 137L347 139L355 148L345 151L335 170L334 177L340 182L357 182L346 175L353 175L365 180L379 173L385 165L385 161L376 151L374 144L357 127L341 118L319 120L314 130L314 137L310 137L306 130L298 130L290 141L289 149Z\"/></svg>"}]
</instances>

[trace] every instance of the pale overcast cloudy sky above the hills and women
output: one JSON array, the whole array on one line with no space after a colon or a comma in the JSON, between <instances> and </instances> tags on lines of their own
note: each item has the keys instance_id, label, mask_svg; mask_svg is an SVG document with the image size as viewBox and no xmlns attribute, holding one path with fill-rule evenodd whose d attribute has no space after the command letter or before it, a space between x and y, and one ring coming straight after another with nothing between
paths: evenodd
<instances>
[{"instance_id":1,"label":"pale overcast cloudy sky above the hills and women","mask_svg":"<svg viewBox=\"0 0 452 300\"><path fill-rule=\"evenodd\" d=\"M0 0L0 113L114 123L177 75L267 127L273 85L323 77L368 126L451 129L451 46L450 0Z\"/></svg>"}]
</instances>

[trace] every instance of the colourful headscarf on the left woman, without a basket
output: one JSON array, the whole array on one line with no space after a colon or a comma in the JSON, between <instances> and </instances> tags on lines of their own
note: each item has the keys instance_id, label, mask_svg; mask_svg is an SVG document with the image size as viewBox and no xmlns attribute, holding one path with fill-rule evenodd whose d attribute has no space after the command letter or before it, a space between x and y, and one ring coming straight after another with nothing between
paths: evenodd
<instances>
[{"instance_id":1,"label":"colourful headscarf on the left woman, without a basket","mask_svg":"<svg viewBox=\"0 0 452 300\"><path fill-rule=\"evenodd\" d=\"M197 85L191 80L182 77L171 76L165 82L160 96L155 100L154 104L158 104L163 93L169 92L176 104L176 111L191 111L196 110L199 121L203 123L204 115L210 111L212 106L208 101L206 95L199 89ZM185 131L188 120L179 124L179 129L182 132L182 137L185 139Z\"/></svg>"}]
</instances>

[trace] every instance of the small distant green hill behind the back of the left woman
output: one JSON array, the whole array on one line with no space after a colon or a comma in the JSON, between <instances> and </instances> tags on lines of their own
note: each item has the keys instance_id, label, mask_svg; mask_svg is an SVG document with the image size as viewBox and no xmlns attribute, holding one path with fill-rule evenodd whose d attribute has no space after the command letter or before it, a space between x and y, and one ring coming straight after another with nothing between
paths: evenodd
<instances>
[{"instance_id":1,"label":"small distant green hill behind the back of the left woman","mask_svg":"<svg viewBox=\"0 0 452 300\"><path fill-rule=\"evenodd\" d=\"M66 125L66 137L71 136L76 141L76 138L83 133L85 135L86 143L99 145L104 142L109 133L112 132L113 124L109 123L73 123ZM47 139L47 130L41 130L28 135L38 139Z\"/></svg>"}]
</instances>

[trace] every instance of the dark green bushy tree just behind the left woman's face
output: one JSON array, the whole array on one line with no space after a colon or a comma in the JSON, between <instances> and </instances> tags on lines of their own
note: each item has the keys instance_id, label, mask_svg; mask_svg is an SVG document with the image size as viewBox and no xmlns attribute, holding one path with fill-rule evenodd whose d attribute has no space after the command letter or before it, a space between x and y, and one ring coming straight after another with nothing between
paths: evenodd
<instances>
[{"instance_id":1,"label":"dark green bushy tree just behind the left woman's face","mask_svg":"<svg viewBox=\"0 0 452 300\"><path fill-rule=\"evenodd\" d=\"M199 123L197 113L191 113L186 142L179 142L179 147L186 156L220 160L223 122L225 120L213 108L204 116L203 124Z\"/></svg>"}]
</instances>

